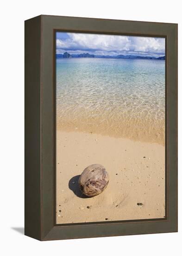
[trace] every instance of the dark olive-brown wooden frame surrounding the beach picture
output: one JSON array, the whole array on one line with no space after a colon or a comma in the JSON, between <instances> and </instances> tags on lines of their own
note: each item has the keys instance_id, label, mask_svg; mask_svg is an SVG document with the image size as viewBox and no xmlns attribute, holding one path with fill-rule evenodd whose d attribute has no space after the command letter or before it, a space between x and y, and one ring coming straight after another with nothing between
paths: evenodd
<instances>
[{"instance_id":1,"label":"dark olive-brown wooden frame surrounding the beach picture","mask_svg":"<svg viewBox=\"0 0 182 256\"><path fill-rule=\"evenodd\" d=\"M166 217L56 225L55 32L166 39ZM177 232L177 24L40 15L25 21L25 235L56 239Z\"/></svg>"}]
</instances>

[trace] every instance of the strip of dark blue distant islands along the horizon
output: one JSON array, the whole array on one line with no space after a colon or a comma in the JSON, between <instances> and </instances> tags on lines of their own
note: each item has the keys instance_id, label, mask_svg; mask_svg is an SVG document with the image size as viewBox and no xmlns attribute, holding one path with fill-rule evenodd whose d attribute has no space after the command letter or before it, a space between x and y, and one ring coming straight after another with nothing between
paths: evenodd
<instances>
[{"instance_id":1,"label":"strip of dark blue distant islands along the horizon","mask_svg":"<svg viewBox=\"0 0 182 256\"><path fill-rule=\"evenodd\" d=\"M165 56L161 57L151 57L151 56L141 56L141 55L94 55L94 54L69 54L67 52L63 54L56 54L56 59L61 58L102 58L102 59L147 59L147 60L165 60Z\"/></svg>"}]
</instances>

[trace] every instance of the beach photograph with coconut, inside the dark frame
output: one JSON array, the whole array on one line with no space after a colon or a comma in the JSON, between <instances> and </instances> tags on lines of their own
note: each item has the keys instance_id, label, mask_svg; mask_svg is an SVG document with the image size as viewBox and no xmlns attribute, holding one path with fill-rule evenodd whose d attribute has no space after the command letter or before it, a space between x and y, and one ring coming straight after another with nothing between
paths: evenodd
<instances>
[{"instance_id":1,"label":"beach photograph with coconut, inside the dark frame","mask_svg":"<svg viewBox=\"0 0 182 256\"><path fill-rule=\"evenodd\" d=\"M165 218L165 38L56 32L56 224Z\"/></svg>"}]
</instances>

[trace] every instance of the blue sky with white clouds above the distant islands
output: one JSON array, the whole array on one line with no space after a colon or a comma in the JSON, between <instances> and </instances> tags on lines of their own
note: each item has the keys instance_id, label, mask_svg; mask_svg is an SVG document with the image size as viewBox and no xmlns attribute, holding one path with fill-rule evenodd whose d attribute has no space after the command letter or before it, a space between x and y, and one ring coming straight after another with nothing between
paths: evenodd
<instances>
[{"instance_id":1,"label":"blue sky with white clouds above the distant islands","mask_svg":"<svg viewBox=\"0 0 182 256\"><path fill-rule=\"evenodd\" d=\"M56 32L56 54L165 55L165 39L157 37Z\"/></svg>"}]
</instances>

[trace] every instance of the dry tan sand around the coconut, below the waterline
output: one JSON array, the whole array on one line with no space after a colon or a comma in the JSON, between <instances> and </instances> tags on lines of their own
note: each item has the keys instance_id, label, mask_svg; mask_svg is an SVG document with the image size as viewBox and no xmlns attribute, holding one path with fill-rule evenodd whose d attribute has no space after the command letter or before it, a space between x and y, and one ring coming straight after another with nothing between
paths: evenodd
<instances>
[{"instance_id":1,"label":"dry tan sand around the coconut, below the waterline","mask_svg":"<svg viewBox=\"0 0 182 256\"><path fill-rule=\"evenodd\" d=\"M78 178L99 163L107 189L83 198ZM165 216L165 148L94 133L56 131L56 223L103 222ZM138 205L139 204L139 205Z\"/></svg>"}]
</instances>

